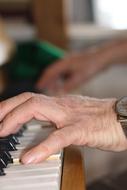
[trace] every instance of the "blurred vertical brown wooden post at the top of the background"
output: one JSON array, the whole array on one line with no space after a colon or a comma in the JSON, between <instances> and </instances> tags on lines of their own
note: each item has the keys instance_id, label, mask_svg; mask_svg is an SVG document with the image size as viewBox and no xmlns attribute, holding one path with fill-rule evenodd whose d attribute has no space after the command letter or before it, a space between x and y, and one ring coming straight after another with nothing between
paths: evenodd
<instances>
[{"instance_id":1,"label":"blurred vertical brown wooden post at the top of the background","mask_svg":"<svg viewBox=\"0 0 127 190\"><path fill-rule=\"evenodd\" d=\"M38 37L61 48L67 46L63 0L33 0Z\"/></svg>"}]
</instances>

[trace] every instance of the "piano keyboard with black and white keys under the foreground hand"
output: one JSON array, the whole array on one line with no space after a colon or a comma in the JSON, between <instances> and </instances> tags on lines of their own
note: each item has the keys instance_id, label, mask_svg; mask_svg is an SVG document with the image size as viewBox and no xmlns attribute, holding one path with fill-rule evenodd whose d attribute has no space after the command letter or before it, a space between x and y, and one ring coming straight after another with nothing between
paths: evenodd
<instances>
[{"instance_id":1,"label":"piano keyboard with black and white keys under the foreground hand","mask_svg":"<svg viewBox=\"0 0 127 190\"><path fill-rule=\"evenodd\" d=\"M16 134L0 138L0 190L60 190L62 151L39 164L22 165L21 153L44 140L53 127L28 123Z\"/></svg>"}]
</instances>

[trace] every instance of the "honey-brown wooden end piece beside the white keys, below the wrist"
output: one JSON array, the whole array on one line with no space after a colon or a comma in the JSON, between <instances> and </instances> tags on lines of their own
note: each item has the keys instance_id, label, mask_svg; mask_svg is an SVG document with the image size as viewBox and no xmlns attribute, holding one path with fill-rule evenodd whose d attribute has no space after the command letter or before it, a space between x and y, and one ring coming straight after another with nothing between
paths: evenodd
<instances>
[{"instance_id":1,"label":"honey-brown wooden end piece beside the white keys, below the wrist","mask_svg":"<svg viewBox=\"0 0 127 190\"><path fill-rule=\"evenodd\" d=\"M78 147L68 147L64 151L61 190L85 190L84 165Z\"/></svg>"}]
</instances>

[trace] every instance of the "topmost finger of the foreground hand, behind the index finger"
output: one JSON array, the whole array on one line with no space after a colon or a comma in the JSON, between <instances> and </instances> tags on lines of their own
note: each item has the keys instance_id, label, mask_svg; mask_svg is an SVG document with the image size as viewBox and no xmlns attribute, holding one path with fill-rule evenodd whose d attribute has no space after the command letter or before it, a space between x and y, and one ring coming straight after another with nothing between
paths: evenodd
<instances>
[{"instance_id":1,"label":"topmost finger of the foreground hand, behind the index finger","mask_svg":"<svg viewBox=\"0 0 127 190\"><path fill-rule=\"evenodd\" d=\"M0 103L0 121L18 105L24 103L28 99L34 96L34 93L25 92L13 98L9 98Z\"/></svg>"}]
</instances>

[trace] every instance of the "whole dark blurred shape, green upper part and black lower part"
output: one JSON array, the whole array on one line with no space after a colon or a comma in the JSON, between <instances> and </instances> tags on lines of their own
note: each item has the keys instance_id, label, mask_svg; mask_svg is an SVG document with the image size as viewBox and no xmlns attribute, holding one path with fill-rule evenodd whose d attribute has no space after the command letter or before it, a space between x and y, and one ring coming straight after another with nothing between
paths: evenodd
<instances>
[{"instance_id":1,"label":"whole dark blurred shape, green upper part and black lower part","mask_svg":"<svg viewBox=\"0 0 127 190\"><path fill-rule=\"evenodd\" d=\"M0 95L0 100L22 92L39 93L40 91L35 88L36 81L49 65L63 56L63 50L47 42L34 40L17 44L14 56L3 66L8 82Z\"/></svg>"}]
</instances>

